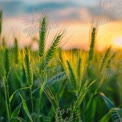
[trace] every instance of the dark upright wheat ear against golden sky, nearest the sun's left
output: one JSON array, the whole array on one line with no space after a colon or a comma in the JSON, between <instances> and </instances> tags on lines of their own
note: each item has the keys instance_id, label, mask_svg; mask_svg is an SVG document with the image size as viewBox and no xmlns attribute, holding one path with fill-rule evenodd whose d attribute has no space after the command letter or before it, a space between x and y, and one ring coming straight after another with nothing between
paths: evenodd
<instances>
[{"instance_id":1,"label":"dark upright wheat ear against golden sky, nearest the sun's left","mask_svg":"<svg viewBox=\"0 0 122 122\"><path fill-rule=\"evenodd\" d=\"M93 28L91 34L90 50L89 50L89 61L92 60L94 54L95 36L96 36L96 28Z\"/></svg>"}]
</instances>

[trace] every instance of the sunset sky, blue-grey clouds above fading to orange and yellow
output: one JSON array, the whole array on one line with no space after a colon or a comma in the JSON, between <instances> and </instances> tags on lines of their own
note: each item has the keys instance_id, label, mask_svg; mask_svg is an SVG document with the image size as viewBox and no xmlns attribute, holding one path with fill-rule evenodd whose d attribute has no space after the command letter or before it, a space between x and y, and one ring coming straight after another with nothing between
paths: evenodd
<instances>
[{"instance_id":1,"label":"sunset sky, blue-grey clouds above fading to orange and yellow","mask_svg":"<svg viewBox=\"0 0 122 122\"><path fill-rule=\"evenodd\" d=\"M47 42L55 33L65 29L64 48L88 48L91 24L98 24L97 47L109 44L122 47L122 1L121 0L0 0L3 10L3 33L8 45L13 37L20 46L38 37L38 21L48 17L50 30ZM6 36L7 35L7 36ZM36 43L34 44L36 48Z\"/></svg>"}]
</instances>

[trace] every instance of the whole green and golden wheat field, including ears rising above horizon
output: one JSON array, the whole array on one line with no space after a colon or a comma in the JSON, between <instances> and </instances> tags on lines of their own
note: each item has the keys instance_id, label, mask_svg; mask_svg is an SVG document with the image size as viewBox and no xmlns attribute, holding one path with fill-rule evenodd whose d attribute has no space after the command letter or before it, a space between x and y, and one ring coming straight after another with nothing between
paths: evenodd
<instances>
[{"instance_id":1,"label":"whole green and golden wheat field, including ears rising above horizon","mask_svg":"<svg viewBox=\"0 0 122 122\"><path fill-rule=\"evenodd\" d=\"M0 122L121 122L122 50L59 47L64 32L45 50L47 18L40 21L39 50L8 48L0 11ZM15 35L16 36L16 35Z\"/></svg>"}]
</instances>

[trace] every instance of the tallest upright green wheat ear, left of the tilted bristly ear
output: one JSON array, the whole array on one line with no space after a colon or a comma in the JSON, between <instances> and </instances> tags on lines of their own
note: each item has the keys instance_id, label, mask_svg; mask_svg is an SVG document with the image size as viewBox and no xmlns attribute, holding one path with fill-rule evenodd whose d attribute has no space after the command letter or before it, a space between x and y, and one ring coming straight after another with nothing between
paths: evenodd
<instances>
[{"instance_id":1,"label":"tallest upright green wheat ear, left of the tilted bristly ear","mask_svg":"<svg viewBox=\"0 0 122 122\"><path fill-rule=\"evenodd\" d=\"M45 39L46 39L46 30L47 30L47 22L46 17L43 18L40 23L40 31L39 31L39 56L42 57L44 55L45 49Z\"/></svg>"}]
</instances>

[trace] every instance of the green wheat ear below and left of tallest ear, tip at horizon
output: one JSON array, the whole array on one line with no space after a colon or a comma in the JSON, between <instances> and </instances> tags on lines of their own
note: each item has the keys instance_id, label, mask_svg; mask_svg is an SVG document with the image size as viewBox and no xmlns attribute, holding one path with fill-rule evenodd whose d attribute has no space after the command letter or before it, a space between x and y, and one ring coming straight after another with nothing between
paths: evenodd
<instances>
[{"instance_id":1,"label":"green wheat ear below and left of tallest ear, tip at horizon","mask_svg":"<svg viewBox=\"0 0 122 122\"><path fill-rule=\"evenodd\" d=\"M33 73L30 65L30 53L27 48L25 49L24 69L25 69L27 84L28 86L31 87L33 85Z\"/></svg>"}]
</instances>

